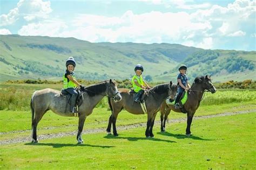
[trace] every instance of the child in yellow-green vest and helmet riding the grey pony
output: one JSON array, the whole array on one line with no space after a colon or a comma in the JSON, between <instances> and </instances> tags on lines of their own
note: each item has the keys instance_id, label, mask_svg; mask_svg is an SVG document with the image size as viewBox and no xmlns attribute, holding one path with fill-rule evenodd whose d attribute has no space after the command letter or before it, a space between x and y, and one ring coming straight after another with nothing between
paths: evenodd
<instances>
[{"instance_id":1,"label":"child in yellow-green vest and helmet riding the grey pony","mask_svg":"<svg viewBox=\"0 0 256 170\"><path fill-rule=\"evenodd\" d=\"M77 113L76 110L76 98L77 98L77 91L75 87L79 86L81 90L85 90L85 87L81 85L80 83L77 82L75 74L74 74L74 69L76 67L76 62L73 57L69 57L68 60L66 60L66 71L65 74L63 75L63 89L68 92L69 94L72 95L71 97L71 107L70 107L70 112L72 113Z\"/></svg>"}]
</instances>

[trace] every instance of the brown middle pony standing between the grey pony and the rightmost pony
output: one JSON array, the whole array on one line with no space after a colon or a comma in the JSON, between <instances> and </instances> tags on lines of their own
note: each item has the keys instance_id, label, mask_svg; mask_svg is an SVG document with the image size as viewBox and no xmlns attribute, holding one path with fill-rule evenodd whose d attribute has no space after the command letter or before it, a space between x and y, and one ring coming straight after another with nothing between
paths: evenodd
<instances>
[{"instance_id":1,"label":"brown middle pony standing between the grey pony and the rightmost pony","mask_svg":"<svg viewBox=\"0 0 256 170\"><path fill-rule=\"evenodd\" d=\"M147 109L147 128L145 135L146 137L154 137L153 135L153 126L154 119L156 118L157 112L160 109L161 103L170 96L171 99L174 98L174 95L177 92L177 84L170 83L160 84L154 86L149 90L149 96L145 98L145 104ZM111 134L111 124L113 124L113 134L117 134L116 121L117 116L123 108L132 114L144 114L140 104L133 103L133 94L130 94L127 90L120 91L122 100L114 101L109 98L109 106L112 114L109 118L109 125L107 126L107 133Z\"/></svg>"}]
</instances>

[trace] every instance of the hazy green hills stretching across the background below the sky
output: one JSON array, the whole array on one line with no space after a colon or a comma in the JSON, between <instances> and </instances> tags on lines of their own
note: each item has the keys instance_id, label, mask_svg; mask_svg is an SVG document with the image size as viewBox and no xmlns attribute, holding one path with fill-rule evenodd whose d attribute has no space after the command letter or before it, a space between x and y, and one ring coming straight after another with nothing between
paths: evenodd
<instances>
[{"instance_id":1,"label":"hazy green hills stretching across the background below the sky","mask_svg":"<svg viewBox=\"0 0 256 170\"><path fill-rule=\"evenodd\" d=\"M212 74L215 81L255 79L256 52L203 50L179 44L90 43L75 38L0 35L0 81L61 79L65 60L75 58L76 77L127 79L138 63L144 77L176 81L180 63L188 76Z\"/></svg>"}]
</instances>

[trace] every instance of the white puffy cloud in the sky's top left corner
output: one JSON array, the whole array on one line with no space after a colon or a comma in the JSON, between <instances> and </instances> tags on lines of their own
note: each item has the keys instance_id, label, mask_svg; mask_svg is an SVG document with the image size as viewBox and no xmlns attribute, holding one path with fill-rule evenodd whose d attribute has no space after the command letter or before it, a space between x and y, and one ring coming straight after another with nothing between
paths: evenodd
<instances>
[{"instance_id":1,"label":"white puffy cloud in the sky's top left corner","mask_svg":"<svg viewBox=\"0 0 256 170\"><path fill-rule=\"evenodd\" d=\"M20 0L16 8L11 9L8 14L0 16L0 26L13 24L21 17L26 21L32 21L35 18L47 18L51 11L50 1Z\"/></svg>"}]
</instances>

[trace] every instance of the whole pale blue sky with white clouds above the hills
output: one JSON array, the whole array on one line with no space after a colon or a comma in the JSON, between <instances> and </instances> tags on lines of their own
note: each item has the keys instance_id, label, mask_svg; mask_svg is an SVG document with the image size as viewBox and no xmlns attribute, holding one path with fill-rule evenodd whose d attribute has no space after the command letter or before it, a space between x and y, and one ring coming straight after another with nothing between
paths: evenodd
<instances>
[{"instance_id":1,"label":"whole pale blue sky with white clouds above the hills","mask_svg":"<svg viewBox=\"0 0 256 170\"><path fill-rule=\"evenodd\" d=\"M256 1L0 0L0 34L256 50Z\"/></svg>"}]
</instances>

